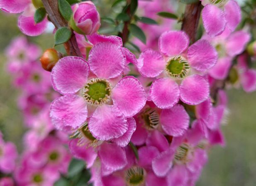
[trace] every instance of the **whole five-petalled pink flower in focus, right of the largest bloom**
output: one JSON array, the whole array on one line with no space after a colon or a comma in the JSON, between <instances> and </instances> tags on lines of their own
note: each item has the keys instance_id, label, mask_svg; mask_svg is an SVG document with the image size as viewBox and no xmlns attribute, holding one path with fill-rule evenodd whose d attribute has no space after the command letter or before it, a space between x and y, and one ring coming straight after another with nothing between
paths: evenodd
<instances>
[{"instance_id":1,"label":"whole five-petalled pink flower in focus, right of the largest bloom","mask_svg":"<svg viewBox=\"0 0 256 186\"><path fill-rule=\"evenodd\" d=\"M209 84L200 75L187 76L190 67L205 72L217 61L217 52L206 40L199 40L188 48L189 38L183 31L167 31L159 38L160 52L145 50L138 63L141 75L161 77L153 81L150 98L157 107L168 109L179 99L189 105L197 105L209 96ZM188 48L188 52L185 50ZM187 77L186 77L187 76ZM182 80L180 85L173 79Z\"/></svg>"}]
</instances>

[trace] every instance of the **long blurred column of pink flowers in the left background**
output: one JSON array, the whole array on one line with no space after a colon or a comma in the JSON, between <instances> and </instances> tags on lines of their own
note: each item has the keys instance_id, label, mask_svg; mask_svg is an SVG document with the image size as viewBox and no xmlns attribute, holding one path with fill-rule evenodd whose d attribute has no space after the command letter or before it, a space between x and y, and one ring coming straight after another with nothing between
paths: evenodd
<instances>
[{"instance_id":1,"label":"long blurred column of pink flowers in the left background","mask_svg":"<svg viewBox=\"0 0 256 186\"><path fill-rule=\"evenodd\" d=\"M51 101L59 94L51 86L50 73L41 68L40 55L41 49L23 36L15 38L6 50L7 70L13 85L20 89L17 103L28 130L18 162L15 146L1 141L0 171L12 173L14 179L1 179L2 185L53 185L66 174L71 160L65 147L68 136L56 131L49 117Z\"/></svg>"}]
</instances>

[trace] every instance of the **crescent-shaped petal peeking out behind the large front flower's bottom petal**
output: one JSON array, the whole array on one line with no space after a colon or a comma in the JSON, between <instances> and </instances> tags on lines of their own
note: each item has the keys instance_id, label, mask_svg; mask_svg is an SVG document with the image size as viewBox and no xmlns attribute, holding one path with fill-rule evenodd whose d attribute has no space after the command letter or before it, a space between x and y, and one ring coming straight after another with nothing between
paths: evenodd
<instances>
[{"instance_id":1,"label":"crescent-shaped petal peeking out behind the large front flower's bottom petal","mask_svg":"<svg viewBox=\"0 0 256 186\"><path fill-rule=\"evenodd\" d=\"M124 135L112 140L115 144L119 145L120 147L125 147L128 145L132 137L132 134L136 130L136 122L133 117L127 118L127 122L128 130L124 133Z\"/></svg>"}]
</instances>

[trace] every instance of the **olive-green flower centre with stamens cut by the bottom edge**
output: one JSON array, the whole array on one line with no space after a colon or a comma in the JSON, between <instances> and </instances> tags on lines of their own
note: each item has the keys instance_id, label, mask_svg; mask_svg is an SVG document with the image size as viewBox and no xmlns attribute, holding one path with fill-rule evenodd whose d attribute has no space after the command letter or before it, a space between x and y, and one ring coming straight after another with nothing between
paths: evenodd
<instances>
[{"instance_id":1,"label":"olive-green flower centre with stamens cut by the bottom edge","mask_svg":"<svg viewBox=\"0 0 256 186\"><path fill-rule=\"evenodd\" d=\"M144 169L132 167L126 171L125 179L128 186L139 186L144 183Z\"/></svg>"}]
</instances>

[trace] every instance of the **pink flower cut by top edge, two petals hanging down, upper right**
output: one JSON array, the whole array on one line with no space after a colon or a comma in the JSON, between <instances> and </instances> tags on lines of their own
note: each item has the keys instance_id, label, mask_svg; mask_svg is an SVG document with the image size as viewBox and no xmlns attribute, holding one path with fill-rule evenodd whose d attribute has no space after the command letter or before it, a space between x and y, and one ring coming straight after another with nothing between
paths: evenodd
<instances>
[{"instance_id":1,"label":"pink flower cut by top edge, two petals hanging down, upper right","mask_svg":"<svg viewBox=\"0 0 256 186\"><path fill-rule=\"evenodd\" d=\"M202 22L209 36L218 36L225 26L234 31L241 21L241 10L235 0L201 0Z\"/></svg>"}]
</instances>

